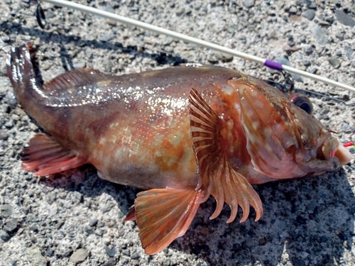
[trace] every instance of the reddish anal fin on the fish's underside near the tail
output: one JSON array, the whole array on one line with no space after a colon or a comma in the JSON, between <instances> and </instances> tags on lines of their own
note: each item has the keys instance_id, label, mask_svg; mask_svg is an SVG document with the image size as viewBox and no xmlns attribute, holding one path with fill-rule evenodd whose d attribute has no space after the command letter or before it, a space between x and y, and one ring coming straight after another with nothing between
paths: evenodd
<instances>
[{"instance_id":1,"label":"reddish anal fin on the fish's underside near the tail","mask_svg":"<svg viewBox=\"0 0 355 266\"><path fill-rule=\"evenodd\" d=\"M36 134L31 138L21 153L21 160L23 169L35 170L35 175L54 174L87 163L45 134Z\"/></svg>"}]
</instances>

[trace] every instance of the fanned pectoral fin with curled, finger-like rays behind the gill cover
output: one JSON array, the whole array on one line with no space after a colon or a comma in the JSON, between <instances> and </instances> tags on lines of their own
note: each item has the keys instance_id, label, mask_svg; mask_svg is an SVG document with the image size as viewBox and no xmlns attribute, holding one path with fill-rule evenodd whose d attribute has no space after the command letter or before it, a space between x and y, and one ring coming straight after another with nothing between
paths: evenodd
<instances>
[{"instance_id":1,"label":"fanned pectoral fin with curled, finger-like rays behind the gill cover","mask_svg":"<svg viewBox=\"0 0 355 266\"><path fill-rule=\"evenodd\" d=\"M241 222L249 216L250 204L256 209L256 221L263 215L263 205L248 180L236 172L222 153L218 143L218 129L222 121L202 99L195 89L190 93L190 129L194 143L197 164L200 170L198 188L204 192L199 201L206 201L210 194L217 201L216 210L210 217L216 218L222 211L224 202L231 207L227 223L236 218L238 205L243 209Z\"/></svg>"}]
</instances>

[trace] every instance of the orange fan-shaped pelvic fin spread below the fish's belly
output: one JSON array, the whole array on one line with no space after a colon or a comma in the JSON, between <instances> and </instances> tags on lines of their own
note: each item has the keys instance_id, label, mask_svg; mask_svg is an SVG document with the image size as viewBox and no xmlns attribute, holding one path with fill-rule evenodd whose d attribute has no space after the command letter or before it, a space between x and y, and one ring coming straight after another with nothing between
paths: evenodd
<instances>
[{"instance_id":1,"label":"orange fan-shaped pelvic fin spread below the fish's belly","mask_svg":"<svg viewBox=\"0 0 355 266\"><path fill-rule=\"evenodd\" d=\"M170 188L137 194L134 209L146 254L160 252L185 234L200 206L197 201L201 196L200 190Z\"/></svg>"}]
</instances>

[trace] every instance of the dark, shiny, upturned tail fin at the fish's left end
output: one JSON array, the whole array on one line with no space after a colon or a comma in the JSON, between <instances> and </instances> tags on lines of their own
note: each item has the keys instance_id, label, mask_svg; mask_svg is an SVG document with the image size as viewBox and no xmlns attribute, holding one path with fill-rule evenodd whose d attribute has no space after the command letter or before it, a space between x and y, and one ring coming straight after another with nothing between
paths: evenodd
<instances>
[{"instance_id":1,"label":"dark, shiny, upturned tail fin at the fish's left end","mask_svg":"<svg viewBox=\"0 0 355 266\"><path fill-rule=\"evenodd\" d=\"M33 98L34 92L38 92L41 85L33 67L32 55L32 44L25 43L17 48L11 48L6 57L7 75L23 107Z\"/></svg>"}]
</instances>

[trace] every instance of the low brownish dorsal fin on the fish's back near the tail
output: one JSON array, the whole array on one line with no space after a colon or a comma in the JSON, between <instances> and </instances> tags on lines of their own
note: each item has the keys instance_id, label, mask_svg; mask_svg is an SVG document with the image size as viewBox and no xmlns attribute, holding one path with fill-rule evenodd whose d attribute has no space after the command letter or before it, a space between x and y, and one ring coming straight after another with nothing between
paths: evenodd
<instances>
[{"instance_id":1,"label":"low brownish dorsal fin on the fish's back near the tail","mask_svg":"<svg viewBox=\"0 0 355 266\"><path fill-rule=\"evenodd\" d=\"M81 87L87 84L99 82L106 75L98 70L89 68L77 68L67 71L55 77L50 82L43 84L42 89L46 92L62 92L70 88Z\"/></svg>"}]
</instances>

